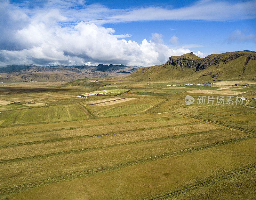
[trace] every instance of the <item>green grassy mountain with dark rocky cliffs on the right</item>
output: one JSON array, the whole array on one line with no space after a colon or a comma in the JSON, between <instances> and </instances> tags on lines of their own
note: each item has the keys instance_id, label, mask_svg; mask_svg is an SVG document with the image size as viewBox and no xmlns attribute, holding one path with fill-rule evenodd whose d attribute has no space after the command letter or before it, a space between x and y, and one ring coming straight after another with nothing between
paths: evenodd
<instances>
[{"instance_id":1,"label":"green grassy mountain with dark rocky cliffs on the right","mask_svg":"<svg viewBox=\"0 0 256 200\"><path fill-rule=\"evenodd\" d=\"M205 58L192 52L172 56L163 65L139 68L127 79L147 81L206 82L256 79L256 52L211 54Z\"/></svg>"}]
</instances>

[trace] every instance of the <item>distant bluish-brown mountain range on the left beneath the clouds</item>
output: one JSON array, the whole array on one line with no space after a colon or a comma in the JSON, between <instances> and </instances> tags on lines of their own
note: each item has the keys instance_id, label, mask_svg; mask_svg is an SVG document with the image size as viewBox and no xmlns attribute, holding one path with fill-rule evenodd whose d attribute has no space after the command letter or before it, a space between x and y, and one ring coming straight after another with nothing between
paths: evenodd
<instances>
[{"instance_id":1,"label":"distant bluish-brown mountain range on the left beneath the clouds","mask_svg":"<svg viewBox=\"0 0 256 200\"><path fill-rule=\"evenodd\" d=\"M58 66L8 65L0 68L1 82L22 81L71 81L80 78L128 75L139 69L137 66Z\"/></svg>"}]
</instances>

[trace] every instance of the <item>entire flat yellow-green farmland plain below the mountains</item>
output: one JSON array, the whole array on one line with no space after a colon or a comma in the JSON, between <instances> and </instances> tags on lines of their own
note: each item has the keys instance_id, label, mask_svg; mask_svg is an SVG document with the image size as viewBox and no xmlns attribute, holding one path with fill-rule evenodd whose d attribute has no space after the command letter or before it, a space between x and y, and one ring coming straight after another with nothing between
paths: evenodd
<instances>
[{"instance_id":1,"label":"entire flat yellow-green farmland plain below the mountains","mask_svg":"<svg viewBox=\"0 0 256 200\"><path fill-rule=\"evenodd\" d=\"M0 88L2 102L21 102L0 106L0 198L253 199L255 101L185 105L199 86L168 84L113 77ZM236 87L246 101L256 96L254 85ZM112 93L76 98L104 90Z\"/></svg>"}]
</instances>

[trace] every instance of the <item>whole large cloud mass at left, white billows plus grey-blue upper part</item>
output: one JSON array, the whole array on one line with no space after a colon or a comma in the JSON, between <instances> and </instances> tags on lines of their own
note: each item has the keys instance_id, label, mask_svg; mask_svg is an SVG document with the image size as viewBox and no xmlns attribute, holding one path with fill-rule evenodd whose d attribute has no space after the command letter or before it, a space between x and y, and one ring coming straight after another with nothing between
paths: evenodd
<instances>
[{"instance_id":1,"label":"whole large cloud mass at left, white billows plus grey-blue upper part","mask_svg":"<svg viewBox=\"0 0 256 200\"><path fill-rule=\"evenodd\" d=\"M55 4L72 6L71 1ZM150 66L166 62L169 56L191 52L188 48L169 48L159 33L152 33L151 40L143 39L141 43L127 40L124 38L130 37L129 33L115 35L113 28L72 21L59 8L33 12L6 2L0 8L2 5L5 6L2 16L8 24L2 23L0 28L10 26L10 32L0 37L0 66L98 63ZM4 46L6 42L8 46Z\"/></svg>"}]
</instances>

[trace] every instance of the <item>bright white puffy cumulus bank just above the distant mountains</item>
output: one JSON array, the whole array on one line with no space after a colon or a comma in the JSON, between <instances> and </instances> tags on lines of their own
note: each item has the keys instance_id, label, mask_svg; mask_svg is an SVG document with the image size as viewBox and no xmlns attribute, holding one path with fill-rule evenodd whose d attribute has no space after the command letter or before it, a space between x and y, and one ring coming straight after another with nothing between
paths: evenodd
<instances>
[{"instance_id":1,"label":"bright white puffy cumulus bank just above the distant mountains","mask_svg":"<svg viewBox=\"0 0 256 200\"><path fill-rule=\"evenodd\" d=\"M52 15L58 16L53 12ZM52 16L49 14L50 16ZM61 18L61 17L60 17ZM55 19L57 20L57 19ZM0 65L6 64L127 64L150 66L164 63L169 56L189 53L189 49L170 49L161 42L159 34L153 34L158 41L141 44L125 39L115 30L79 22L74 27L63 28L52 21L31 20L31 23L16 34L28 48L20 51L0 50ZM160 41L160 42L159 42Z\"/></svg>"}]
</instances>

